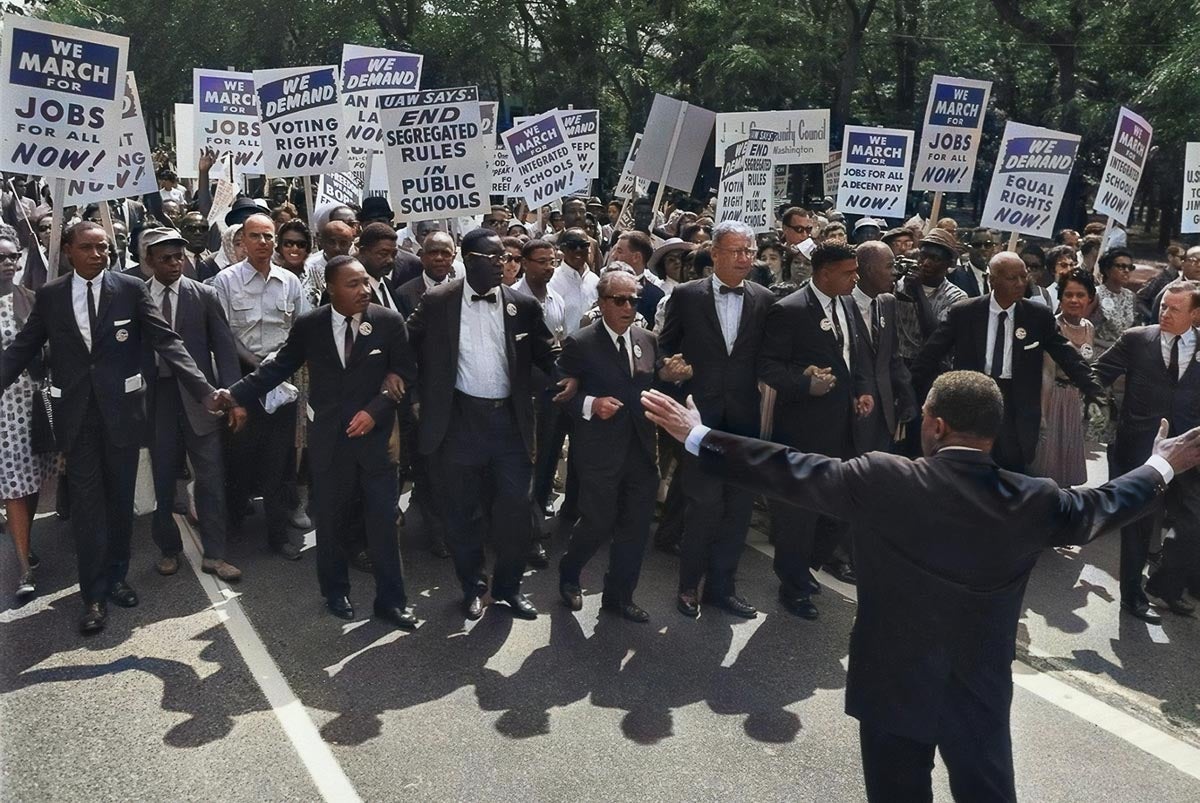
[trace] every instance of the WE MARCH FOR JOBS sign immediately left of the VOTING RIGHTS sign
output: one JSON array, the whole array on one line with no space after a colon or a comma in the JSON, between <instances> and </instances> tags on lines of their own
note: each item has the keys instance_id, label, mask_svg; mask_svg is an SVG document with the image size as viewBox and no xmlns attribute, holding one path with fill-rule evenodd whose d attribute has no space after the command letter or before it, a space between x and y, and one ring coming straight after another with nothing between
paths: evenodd
<instances>
[{"instance_id":1,"label":"WE MARCH FOR JOBS sign immediately left of the VOTING RIGHTS sign","mask_svg":"<svg viewBox=\"0 0 1200 803\"><path fill-rule=\"evenodd\" d=\"M197 152L229 154L233 174L263 174L254 77L248 72L193 70Z\"/></svg>"}]
</instances>

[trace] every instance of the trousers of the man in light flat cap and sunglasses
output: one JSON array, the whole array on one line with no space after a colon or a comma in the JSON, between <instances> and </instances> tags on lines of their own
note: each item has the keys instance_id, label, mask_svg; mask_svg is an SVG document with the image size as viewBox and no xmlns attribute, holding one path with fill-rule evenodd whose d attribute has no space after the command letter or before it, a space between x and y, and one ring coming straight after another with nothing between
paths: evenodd
<instances>
[{"instance_id":1,"label":"trousers of the man in light flat cap and sunglasses","mask_svg":"<svg viewBox=\"0 0 1200 803\"><path fill-rule=\"evenodd\" d=\"M200 520L204 557L223 561L227 520L221 430L196 435L179 394L178 380L172 377L157 379L151 412L154 442L150 448L156 507L150 533L163 555L179 555L184 549L173 510L179 460L186 450L196 477L196 514Z\"/></svg>"}]
</instances>

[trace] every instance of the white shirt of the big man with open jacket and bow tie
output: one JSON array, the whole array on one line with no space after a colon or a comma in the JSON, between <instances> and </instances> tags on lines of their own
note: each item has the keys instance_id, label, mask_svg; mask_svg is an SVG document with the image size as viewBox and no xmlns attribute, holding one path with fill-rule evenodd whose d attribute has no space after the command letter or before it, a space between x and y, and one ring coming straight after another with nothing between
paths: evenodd
<instances>
[{"instance_id":1,"label":"white shirt of the big man with open jacket and bow tie","mask_svg":"<svg viewBox=\"0 0 1200 803\"><path fill-rule=\"evenodd\" d=\"M475 289L463 282L462 319L458 322L458 374L454 386L478 398L508 398L509 360L504 349L504 295L488 290L496 301L472 301Z\"/></svg>"}]
</instances>

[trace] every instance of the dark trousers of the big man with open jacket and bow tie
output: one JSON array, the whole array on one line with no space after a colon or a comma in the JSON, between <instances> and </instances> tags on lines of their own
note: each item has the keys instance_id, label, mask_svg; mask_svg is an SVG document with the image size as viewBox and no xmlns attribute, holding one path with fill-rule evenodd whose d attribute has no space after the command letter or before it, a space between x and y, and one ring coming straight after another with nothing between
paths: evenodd
<instances>
[{"instance_id":1,"label":"dark trousers of the big man with open jacket and bow tie","mask_svg":"<svg viewBox=\"0 0 1200 803\"><path fill-rule=\"evenodd\" d=\"M491 543L496 550L492 597L516 594L532 538L533 463L511 400L475 398L455 391L446 436L432 463L446 545L463 593L487 589L484 504L490 499Z\"/></svg>"}]
</instances>

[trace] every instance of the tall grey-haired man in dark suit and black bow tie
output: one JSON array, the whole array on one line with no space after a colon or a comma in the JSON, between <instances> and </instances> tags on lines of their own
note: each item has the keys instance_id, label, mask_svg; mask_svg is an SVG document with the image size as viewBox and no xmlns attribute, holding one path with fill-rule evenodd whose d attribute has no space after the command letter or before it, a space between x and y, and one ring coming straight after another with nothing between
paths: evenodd
<instances>
[{"instance_id":1,"label":"tall grey-haired man in dark suit and black bow tie","mask_svg":"<svg viewBox=\"0 0 1200 803\"><path fill-rule=\"evenodd\" d=\"M754 437L761 419L757 361L767 308L775 296L745 281L754 266L754 230L738 221L713 229L713 276L674 288L659 336L664 367L690 378L679 391L692 395L704 421ZM676 607L700 616L697 589L704 580L704 600L736 616L757 611L737 595L737 573L754 497L702 473L685 457L680 471L688 511L679 556Z\"/></svg>"}]
</instances>

